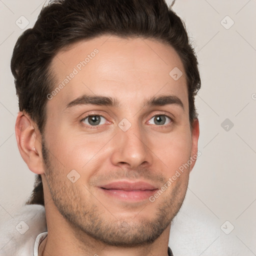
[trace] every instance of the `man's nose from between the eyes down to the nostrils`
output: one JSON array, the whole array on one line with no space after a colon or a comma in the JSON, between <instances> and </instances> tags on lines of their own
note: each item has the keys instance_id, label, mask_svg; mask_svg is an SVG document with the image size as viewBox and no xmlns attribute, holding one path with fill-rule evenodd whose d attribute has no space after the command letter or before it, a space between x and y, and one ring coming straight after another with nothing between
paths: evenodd
<instances>
[{"instance_id":1,"label":"man's nose from between the eyes down to the nostrils","mask_svg":"<svg viewBox=\"0 0 256 256\"><path fill-rule=\"evenodd\" d=\"M117 134L112 152L113 164L127 163L134 168L144 161L151 162L147 148L147 136L143 128L135 121L130 122L126 118L118 123Z\"/></svg>"}]
</instances>

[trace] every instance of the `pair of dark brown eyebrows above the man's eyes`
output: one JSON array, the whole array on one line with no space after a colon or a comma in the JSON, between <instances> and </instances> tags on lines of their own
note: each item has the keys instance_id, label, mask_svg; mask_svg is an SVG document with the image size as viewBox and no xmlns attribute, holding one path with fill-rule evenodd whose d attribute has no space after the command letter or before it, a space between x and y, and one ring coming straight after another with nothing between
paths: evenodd
<instances>
[{"instance_id":1,"label":"pair of dark brown eyebrows above the man's eyes","mask_svg":"<svg viewBox=\"0 0 256 256\"><path fill-rule=\"evenodd\" d=\"M101 95L89 95L83 94L80 97L75 98L74 100L70 101L66 106L65 109L71 108L77 105L102 105L102 106L112 106L112 107L120 107L120 102L116 98L106 97ZM184 105L182 101L175 95L159 95L159 96L152 96L149 99L144 101L144 106L163 106L168 104L175 104L179 105L184 109Z\"/></svg>"}]
</instances>

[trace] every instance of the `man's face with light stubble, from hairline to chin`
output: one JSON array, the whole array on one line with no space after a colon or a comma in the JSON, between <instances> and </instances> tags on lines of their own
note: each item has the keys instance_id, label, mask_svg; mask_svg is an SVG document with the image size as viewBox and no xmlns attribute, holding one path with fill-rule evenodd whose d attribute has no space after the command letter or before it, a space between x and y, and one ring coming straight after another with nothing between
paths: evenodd
<instances>
[{"instance_id":1,"label":"man's face with light stubble, from hairline to chin","mask_svg":"<svg viewBox=\"0 0 256 256\"><path fill-rule=\"evenodd\" d=\"M59 52L51 67L44 193L77 232L116 246L152 242L178 212L191 166L169 178L196 153L180 58L150 39L100 36ZM105 98L85 104L85 95ZM145 104L159 96L172 97Z\"/></svg>"}]
</instances>

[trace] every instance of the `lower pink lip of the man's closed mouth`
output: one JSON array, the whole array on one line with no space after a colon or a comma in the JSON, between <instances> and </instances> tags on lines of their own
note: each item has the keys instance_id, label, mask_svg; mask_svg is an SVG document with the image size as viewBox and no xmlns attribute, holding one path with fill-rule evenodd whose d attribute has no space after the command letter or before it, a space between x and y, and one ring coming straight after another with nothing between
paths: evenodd
<instances>
[{"instance_id":1,"label":"lower pink lip of the man's closed mouth","mask_svg":"<svg viewBox=\"0 0 256 256\"><path fill-rule=\"evenodd\" d=\"M109 196L116 197L122 200L145 200L148 199L151 195L153 195L157 189L154 190L121 190L121 189L104 189L100 188L105 194Z\"/></svg>"}]
</instances>

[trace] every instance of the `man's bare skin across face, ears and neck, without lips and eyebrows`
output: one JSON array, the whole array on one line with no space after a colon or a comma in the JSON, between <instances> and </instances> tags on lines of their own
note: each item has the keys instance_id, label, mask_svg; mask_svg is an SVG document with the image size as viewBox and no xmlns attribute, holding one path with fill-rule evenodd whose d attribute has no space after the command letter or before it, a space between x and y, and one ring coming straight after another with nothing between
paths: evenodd
<instances>
[{"instance_id":1,"label":"man's bare skin across face, ears and neck, without lips and eyebrows","mask_svg":"<svg viewBox=\"0 0 256 256\"><path fill-rule=\"evenodd\" d=\"M78 70L95 48L98 53ZM121 180L160 189L196 154L199 125L195 119L190 129L182 62L171 46L153 39L103 35L57 53L51 62L52 90L74 67L77 74L46 104L44 136L26 113L19 112L16 120L20 154L31 171L42 175L48 236L39 255L167 255L171 220L195 160L153 202L121 199L100 187ZM178 80L169 75L174 67L183 72ZM119 107L65 107L85 93L116 98ZM183 108L143 104L170 94ZM88 114L103 117L91 125L84 119ZM118 123L131 126L123 131ZM75 182L67 178L71 170L75 180L79 175Z\"/></svg>"}]
</instances>

